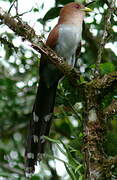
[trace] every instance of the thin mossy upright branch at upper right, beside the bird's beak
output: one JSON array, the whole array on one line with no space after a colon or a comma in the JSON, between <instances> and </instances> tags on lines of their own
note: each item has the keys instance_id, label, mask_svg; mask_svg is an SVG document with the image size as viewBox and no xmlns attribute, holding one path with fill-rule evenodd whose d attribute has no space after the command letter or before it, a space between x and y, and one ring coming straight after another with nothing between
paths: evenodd
<instances>
[{"instance_id":1,"label":"thin mossy upright branch at upper right, beside the bird's beak","mask_svg":"<svg viewBox=\"0 0 117 180\"><path fill-rule=\"evenodd\" d=\"M100 70L99 70L99 66L100 63L102 61L102 54L103 54L103 50L104 50L104 46L107 43L108 39L110 39L110 35L109 35L109 31L111 28L111 17L114 11L114 4L115 4L115 0L112 0L112 2L109 5L108 11L107 11L107 15L105 16L104 20L105 20L105 27L104 27L104 32L100 41L100 46L99 46L99 50L98 50L98 58L97 58L97 62L96 62L96 70L95 70L95 77L96 75L100 74Z\"/></svg>"}]
</instances>

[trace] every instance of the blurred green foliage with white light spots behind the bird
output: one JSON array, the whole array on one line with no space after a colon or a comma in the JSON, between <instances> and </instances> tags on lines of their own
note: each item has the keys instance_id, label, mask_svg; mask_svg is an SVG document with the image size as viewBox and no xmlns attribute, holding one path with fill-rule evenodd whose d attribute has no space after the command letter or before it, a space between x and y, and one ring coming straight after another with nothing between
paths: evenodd
<instances>
[{"instance_id":1,"label":"blurred green foliage with white light spots behind the bird","mask_svg":"<svg viewBox=\"0 0 117 180\"><path fill-rule=\"evenodd\" d=\"M9 9L13 0L9 2ZM51 23L61 9L61 5L71 0L55 0L54 6L37 19L42 25L42 36L47 37ZM81 1L84 3L90 1ZM39 1L39 3L41 3ZM85 18L82 51L78 60L81 81L89 81L97 60L99 42L104 29L104 16L107 14L106 1L97 0L90 5L94 9ZM35 5L31 11L40 13L44 3ZM23 19L23 16L21 17ZM48 24L49 22L49 24ZM108 40L100 64L101 74L117 70L117 16L113 14L110 28L111 38ZM30 46L23 43L12 31L4 30L0 24L0 180L25 180L24 151L27 127L35 99L38 83L38 64L40 55ZM6 27L5 27L6 28ZM117 88L103 97L102 109L117 98ZM31 180L82 180L83 164L83 101L82 92L76 91L65 78L59 85L55 105L50 138L47 137L47 148L44 160L36 168ZM108 156L117 155L117 116L107 123L106 141L104 144ZM51 143L50 143L51 142ZM62 172L61 172L62 171ZM113 175L117 176L117 167L113 167Z\"/></svg>"}]
</instances>

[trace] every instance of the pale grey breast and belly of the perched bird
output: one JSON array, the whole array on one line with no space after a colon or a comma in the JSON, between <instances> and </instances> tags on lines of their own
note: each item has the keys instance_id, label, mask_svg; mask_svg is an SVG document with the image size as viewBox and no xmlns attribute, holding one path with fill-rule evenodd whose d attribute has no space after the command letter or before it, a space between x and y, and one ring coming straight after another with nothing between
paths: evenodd
<instances>
[{"instance_id":1,"label":"pale grey breast and belly of the perched bird","mask_svg":"<svg viewBox=\"0 0 117 180\"><path fill-rule=\"evenodd\" d=\"M56 52L65 58L69 65L74 66L74 54L81 41L82 26L76 28L73 25L60 25L59 38L56 45Z\"/></svg>"}]
</instances>

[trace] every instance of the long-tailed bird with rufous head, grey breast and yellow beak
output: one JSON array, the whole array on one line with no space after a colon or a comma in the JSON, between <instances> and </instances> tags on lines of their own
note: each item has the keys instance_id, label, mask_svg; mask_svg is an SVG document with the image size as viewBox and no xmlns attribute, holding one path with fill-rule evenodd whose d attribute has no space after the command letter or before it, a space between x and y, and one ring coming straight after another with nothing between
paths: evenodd
<instances>
[{"instance_id":1,"label":"long-tailed bird with rufous head, grey breast and yellow beak","mask_svg":"<svg viewBox=\"0 0 117 180\"><path fill-rule=\"evenodd\" d=\"M58 23L49 33L46 41L46 45L72 67L76 65L76 57L81 49L85 13L90 11L92 11L90 8L77 2L66 4L61 8ZM35 171L35 165L44 153L46 144L44 137L49 135L57 85L63 74L42 54L39 77L25 152L28 173Z\"/></svg>"}]
</instances>

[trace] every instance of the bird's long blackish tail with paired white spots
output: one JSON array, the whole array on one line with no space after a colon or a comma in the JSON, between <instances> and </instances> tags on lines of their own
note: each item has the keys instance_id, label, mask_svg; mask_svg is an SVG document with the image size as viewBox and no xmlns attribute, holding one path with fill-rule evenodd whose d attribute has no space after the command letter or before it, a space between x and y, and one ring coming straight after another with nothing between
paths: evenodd
<instances>
[{"instance_id":1,"label":"bird's long blackish tail with paired white spots","mask_svg":"<svg viewBox=\"0 0 117 180\"><path fill-rule=\"evenodd\" d=\"M58 81L47 88L40 80L30 121L26 147L26 171L33 173L40 155L44 153L45 139L49 135Z\"/></svg>"}]
</instances>

